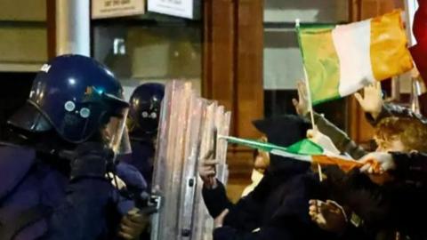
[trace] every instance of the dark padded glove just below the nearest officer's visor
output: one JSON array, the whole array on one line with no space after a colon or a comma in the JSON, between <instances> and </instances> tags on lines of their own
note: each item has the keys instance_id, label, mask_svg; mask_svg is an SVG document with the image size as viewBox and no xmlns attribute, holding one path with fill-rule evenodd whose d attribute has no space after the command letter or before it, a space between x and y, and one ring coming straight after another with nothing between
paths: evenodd
<instances>
[{"instance_id":1,"label":"dark padded glove just below the nearest officer's visor","mask_svg":"<svg viewBox=\"0 0 427 240\"><path fill-rule=\"evenodd\" d=\"M71 180L105 178L112 165L114 152L100 142L85 142L77 146L71 160Z\"/></svg>"}]
</instances>

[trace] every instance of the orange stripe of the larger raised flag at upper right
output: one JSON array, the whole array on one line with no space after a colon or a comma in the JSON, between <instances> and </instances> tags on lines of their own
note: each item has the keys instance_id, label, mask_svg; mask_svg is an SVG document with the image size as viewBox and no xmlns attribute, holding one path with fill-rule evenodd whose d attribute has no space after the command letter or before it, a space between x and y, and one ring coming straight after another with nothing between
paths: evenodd
<instances>
[{"instance_id":1,"label":"orange stripe of the larger raised flag at upper right","mask_svg":"<svg viewBox=\"0 0 427 240\"><path fill-rule=\"evenodd\" d=\"M371 20L371 65L378 81L413 68L400 11Z\"/></svg>"}]
</instances>

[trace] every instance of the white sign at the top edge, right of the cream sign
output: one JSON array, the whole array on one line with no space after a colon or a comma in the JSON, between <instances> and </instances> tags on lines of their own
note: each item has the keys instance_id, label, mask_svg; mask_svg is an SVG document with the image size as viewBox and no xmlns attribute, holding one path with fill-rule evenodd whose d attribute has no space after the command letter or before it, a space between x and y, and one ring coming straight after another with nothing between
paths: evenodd
<instances>
[{"instance_id":1,"label":"white sign at the top edge, right of the cream sign","mask_svg":"<svg viewBox=\"0 0 427 240\"><path fill-rule=\"evenodd\" d=\"M148 0L149 12L158 12L187 19L193 18L193 0Z\"/></svg>"}]
</instances>

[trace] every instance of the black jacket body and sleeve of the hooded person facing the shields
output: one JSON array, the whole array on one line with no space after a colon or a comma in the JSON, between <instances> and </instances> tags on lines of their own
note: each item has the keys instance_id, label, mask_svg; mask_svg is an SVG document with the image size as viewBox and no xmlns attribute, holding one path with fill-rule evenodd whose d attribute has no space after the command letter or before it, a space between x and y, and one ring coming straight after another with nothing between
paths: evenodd
<instances>
[{"instance_id":1,"label":"black jacket body and sleeve of the hooded person facing the shields","mask_svg":"<svg viewBox=\"0 0 427 240\"><path fill-rule=\"evenodd\" d=\"M214 218L225 208L230 210L223 227L215 229L214 240L314 239L327 235L308 214L310 196L321 197L322 193L313 177L307 173L290 178L266 173L254 191L237 204L228 201L221 183L215 189L204 188L205 204Z\"/></svg>"}]
</instances>

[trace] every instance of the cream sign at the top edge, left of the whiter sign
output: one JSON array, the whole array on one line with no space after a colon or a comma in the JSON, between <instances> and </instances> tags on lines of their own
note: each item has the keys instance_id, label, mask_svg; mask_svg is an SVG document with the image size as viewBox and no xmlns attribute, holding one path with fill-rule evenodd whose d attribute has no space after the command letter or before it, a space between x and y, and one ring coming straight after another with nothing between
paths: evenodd
<instances>
[{"instance_id":1,"label":"cream sign at the top edge, left of the whiter sign","mask_svg":"<svg viewBox=\"0 0 427 240\"><path fill-rule=\"evenodd\" d=\"M92 18L105 19L143 14L145 0L92 0Z\"/></svg>"}]
</instances>

